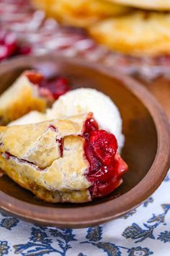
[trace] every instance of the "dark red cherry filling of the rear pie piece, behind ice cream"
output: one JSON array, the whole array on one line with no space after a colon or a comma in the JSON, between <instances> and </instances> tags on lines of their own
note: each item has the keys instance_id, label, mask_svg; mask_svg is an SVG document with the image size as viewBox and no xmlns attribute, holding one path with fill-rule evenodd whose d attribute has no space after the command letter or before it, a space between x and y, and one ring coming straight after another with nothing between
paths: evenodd
<instances>
[{"instance_id":1,"label":"dark red cherry filling of the rear pie piece, behind ice cream","mask_svg":"<svg viewBox=\"0 0 170 256\"><path fill-rule=\"evenodd\" d=\"M51 101L57 100L61 95L69 90L69 82L66 78L55 77L47 80L38 72L25 72L30 82L39 87L39 92L42 97L49 98Z\"/></svg>"}]
</instances>

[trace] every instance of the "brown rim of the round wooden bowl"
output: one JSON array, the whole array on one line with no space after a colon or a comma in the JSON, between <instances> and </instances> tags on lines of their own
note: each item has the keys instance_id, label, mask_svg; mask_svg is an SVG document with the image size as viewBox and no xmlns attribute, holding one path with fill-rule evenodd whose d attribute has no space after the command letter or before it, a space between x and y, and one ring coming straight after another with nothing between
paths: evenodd
<instances>
[{"instance_id":1,"label":"brown rim of the round wooden bowl","mask_svg":"<svg viewBox=\"0 0 170 256\"><path fill-rule=\"evenodd\" d=\"M101 202L98 205L81 206L79 208L50 208L40 205L32 205L28 202L17 200L14 197L6 195L0 191L0 208L12 213L16 216L26 219L27 221L35 221L49 226L63 227L83 227L92 226L112 218L117 218L130 209L135 208L141 202L147 199L161 184L166 176L170 166L170 129L169 121L161 106L153 98L146 88L143 88L139 82L120 74L116 69L111 70L100 64L89 64L86 61L75 58L67 58L63 56L27 56L17 57L10 61L4 61L0 64L0 75L6 71L6 68L21 67L24 63L32 64L35 60L41 61L66 61L69 64L76 64L81 67L93 69L101 72L109 77L120 80L123 85L128 88L150 112L156 126L158 137L158 148L153 164L146 176L130 191L124 195L120 195L114 199L114 208L112 200ZM145 102L143 102L145 98ZM154 182L153 182L154 176ZM145 191L143 191L143 188Z\"/></svg>"}]
</instances>

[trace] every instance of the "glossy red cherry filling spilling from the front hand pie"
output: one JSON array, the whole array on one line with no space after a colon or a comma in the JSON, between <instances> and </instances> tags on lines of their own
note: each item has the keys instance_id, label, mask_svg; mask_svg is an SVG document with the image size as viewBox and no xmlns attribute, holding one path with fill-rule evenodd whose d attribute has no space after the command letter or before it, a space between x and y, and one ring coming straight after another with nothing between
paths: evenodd
<instances>
[{"instance_id":1,"label":"glossy red cherry filling spilling from the front hand pie","mask_svg":"<svg viewBox=\"0 0 170 256\"><path fill-rule=\"evenodd\" d=\"M86 120L83 137L84 151L90 165L86 179L92 183L89 188L91 197L104 197L121 184L122 174L128 170L128 166L117 153L115 136L99 130L94 119Z\"/></svg>"}]
</instances>

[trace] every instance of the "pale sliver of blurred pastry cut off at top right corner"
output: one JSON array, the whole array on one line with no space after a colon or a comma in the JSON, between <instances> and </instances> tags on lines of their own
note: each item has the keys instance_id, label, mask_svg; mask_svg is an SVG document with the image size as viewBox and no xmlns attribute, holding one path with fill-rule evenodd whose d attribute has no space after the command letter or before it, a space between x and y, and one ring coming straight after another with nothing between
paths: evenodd
<instances>
[{"instance_id":1,"label":"pale sliver of blurred pastry cut off at top right corner","mask_svg":"<svg viewBox=\"0 0 170 256\"><path fill-rule=\"evenodd\" d=\"M170 10L170 0L109 0L112 3L150 10Z\"/></svg>"}]
</instances>

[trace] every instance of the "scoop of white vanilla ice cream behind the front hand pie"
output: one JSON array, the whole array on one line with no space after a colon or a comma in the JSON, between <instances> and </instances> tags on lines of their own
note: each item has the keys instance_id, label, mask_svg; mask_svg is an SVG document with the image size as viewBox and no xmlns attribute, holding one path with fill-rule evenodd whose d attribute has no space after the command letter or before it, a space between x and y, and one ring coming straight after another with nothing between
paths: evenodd
<instances>
[{"instance_id":1,"label":"scoop of white vanilla ice cream behind the front hand pie","mask_svg":"<svg viewBox=\"0 0 170 256\"><path fill-rule=\"evenodd\" d=\"M98 90L91 88L71 90L53 103L53 107L47 110L47 115L48 119L63 119L87 112L93 112L100 129L115 135L121 149L124 145L124 136L120 112L115 103Z\"/></svg>"}]
</instances>

